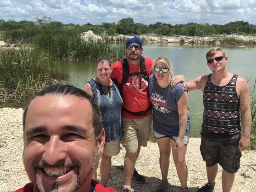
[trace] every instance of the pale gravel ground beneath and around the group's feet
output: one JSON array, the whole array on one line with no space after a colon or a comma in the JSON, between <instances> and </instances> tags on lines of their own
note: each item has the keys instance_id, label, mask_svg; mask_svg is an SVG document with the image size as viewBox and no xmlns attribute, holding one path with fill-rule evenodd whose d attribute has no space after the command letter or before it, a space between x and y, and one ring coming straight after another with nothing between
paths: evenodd
<instances>
[{"instance_id":1,"label":"pale gravel ground beneath and around the group's feet","mask_svg":"<svg viewBox=\"0 0 256 192\"><path fill-rule=\"evenodd\" d=\"M22 163L22 112L22 109L0 108L0 192L16 190L29 182ZM190 192L195 192L198 187L207 182L205 165L200 155L199 146L200 138L189 139L186 160L188 168L187 184ZM120 154L112 158L109 186L117 192L122 191L124 183L124 156L125 150L122 148ZM255 168L253 165L255 163L256 151L242 152L240 170L236 173L232 192L256 191L256 172L250 168ZM146 183L136 184L132 182L133 189L136 192L154 192L159 184L159 179L161 179L159 151L156 143L149 142L147 147L141 149L136 169L140 174L145 176ZM219 167L214 192L222 191L221 172L222 168ZM242 176L244 172L245 176ZM99 170L98 178L100 179ZM171 158L168 180L169 192L181 191L179 179Z\"/></svg>"}]
</instances>

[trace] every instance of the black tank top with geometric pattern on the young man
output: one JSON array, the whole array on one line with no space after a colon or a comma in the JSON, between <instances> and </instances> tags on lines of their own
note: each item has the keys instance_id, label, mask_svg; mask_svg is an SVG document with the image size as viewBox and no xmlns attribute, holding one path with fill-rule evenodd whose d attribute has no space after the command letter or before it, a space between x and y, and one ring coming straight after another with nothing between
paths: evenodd
<instances>
[{"instance_id":1,"label":"black tank top with geometric pattern on the young man","mask_svg":"<svg viewBox=\"0 0 256 192\"><path fill-rule=\"evenodd\" d=\"M236 93L234 74L226 86L216 86L209 74L204 88L204 120L202 128L219 134L240 132L240 100Z\"/></svg>"}]
</instances>

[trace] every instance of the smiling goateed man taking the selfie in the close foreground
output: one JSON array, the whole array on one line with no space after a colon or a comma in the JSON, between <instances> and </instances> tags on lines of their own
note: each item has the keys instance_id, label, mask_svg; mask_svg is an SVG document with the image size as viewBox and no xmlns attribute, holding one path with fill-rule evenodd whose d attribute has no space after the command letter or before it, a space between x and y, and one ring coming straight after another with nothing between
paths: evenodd
<instances>
[{"instance_id":1,"label":"smiling goateed man taking the selfie in the close foreground","mask_svg":"<svg viewBox=\"0 0 256 192\"><path fill-rule=\"evenodd\" d=\"M99 108L83 90L53 85L40 91L24 109L23 131L31 182L16 192L115 192L91 179L105 132Z\"/></svg>"}]
</instances>

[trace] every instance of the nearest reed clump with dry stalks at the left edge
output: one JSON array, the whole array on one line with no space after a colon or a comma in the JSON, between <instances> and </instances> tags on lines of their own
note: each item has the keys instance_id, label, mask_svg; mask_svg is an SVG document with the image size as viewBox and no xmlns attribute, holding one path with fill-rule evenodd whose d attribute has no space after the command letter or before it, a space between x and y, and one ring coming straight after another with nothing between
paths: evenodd
<instances>
[{"instance_id":1,"label":"nearest reed clump with dry stalks at the left edge","mask_svg":"<svg viewBox=\"0 0 256 192\"><path fill-rule=\"evenodd\" d=\"M0 106L19 104L38 90L63 82L50 62L40 64L42 52L36 49L0 50Z\"/></svg>"}]
</instances>

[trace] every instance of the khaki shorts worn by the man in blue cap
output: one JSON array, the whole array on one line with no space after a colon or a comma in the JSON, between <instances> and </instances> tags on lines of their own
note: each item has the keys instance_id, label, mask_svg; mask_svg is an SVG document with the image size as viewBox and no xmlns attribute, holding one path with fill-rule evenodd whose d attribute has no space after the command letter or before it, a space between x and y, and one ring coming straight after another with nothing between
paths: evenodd
<instances>
[{"instance_id":1,"label":"khaki shorts worn by the man in blue cap","mask_svg":"<svg viewBox=\"0 0 256 192\"><path fill-rule=\"evenodd\" d=\"M129 153L135 153L139 146L146 147L151 133L152 115L140 119L122 117L121 143Z\"/></svg>"}]
</instances>

